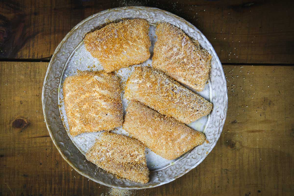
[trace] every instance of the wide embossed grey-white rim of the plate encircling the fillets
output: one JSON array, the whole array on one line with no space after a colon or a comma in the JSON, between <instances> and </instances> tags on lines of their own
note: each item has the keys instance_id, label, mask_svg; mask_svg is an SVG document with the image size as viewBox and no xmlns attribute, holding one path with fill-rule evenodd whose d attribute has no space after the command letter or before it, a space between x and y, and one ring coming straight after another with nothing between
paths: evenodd
<instances>
[{"instance_id":1,"label":"wide embossed grey-white rim of the plate encircling the fillets","mask_svg":"<svg viewBox=\"0 0 294 196\"><path fill-rule=\"evenodd\" d=\"M212 55L209 76L211 88L210 99L214 108L205 130L209 143L204 143L199 146L200 148L194 148L174 164L164 167L161 170L151 172L150 181L147 184L139 184L125 179L117 179L114 175L107 173L93 163L87 161L85 156L69 138L59 113L58 87L64 66L69 57L88 32L99 29L110 21L117 21L122 18L143 18L151 24L156 24L158 22L168 22L173 24L182 29L191 38L197 39L201 46L208 50ZM94 14L81 21L65 36L56 48L49 63L44 79L42 103L44 118L50 137L61 156L69 163L69 165L71 165L71 167L81 175L106 186L120 189L143 189L171 182L186 174L206 158L220 137L228 108L228 96L225 76L218 56L211 46L211 43L209 43L206 37L195 26L167 11L157 8L132 6L109 9Z\"/></svg>"}]
</instances>

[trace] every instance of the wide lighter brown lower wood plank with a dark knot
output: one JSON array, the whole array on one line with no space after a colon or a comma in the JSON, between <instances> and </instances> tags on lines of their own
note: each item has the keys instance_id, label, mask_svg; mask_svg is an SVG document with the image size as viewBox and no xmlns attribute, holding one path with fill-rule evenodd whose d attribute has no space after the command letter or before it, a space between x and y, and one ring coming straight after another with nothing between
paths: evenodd
<instances>
[{"instance_id":1,"label":"wide lighter brown lower wood plank with a dark knot","mask_svg":"<svg viewBox=\"0 0 294 196\"><path fill-rule=\"evenodd\" d=\"M0 63L0 195L293 194L293 66L225 66L228 113L213 151L167 185L127 191L88 181L59 155L41 106L47 66Z\"/></svg>"}]
</instances>

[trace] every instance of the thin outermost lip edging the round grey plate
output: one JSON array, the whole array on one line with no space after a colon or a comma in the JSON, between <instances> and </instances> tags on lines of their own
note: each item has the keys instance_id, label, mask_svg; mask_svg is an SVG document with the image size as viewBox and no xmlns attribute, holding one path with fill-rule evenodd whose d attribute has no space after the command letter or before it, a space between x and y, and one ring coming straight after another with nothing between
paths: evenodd
<instances>
[{"instance_id":1,"label":"thin outermost lip edging the round grey plate","mask_svg":"<svg viewBox=\"0 0 294 196\"><path fill-rule=\"evenodd\" d=\"M208 154L212 151L212 149L215 147L217 141L219 140L220 138L220 135L222 133L222 130L223 130L223 126L224 126L224 123L225 123L225 119L226 119L226 116L227 116L227 110L228 110L228 89L227 89L227 86L226 86L226 80L225 80L225 74L224 74L224 71L223 71L223 66L216 54L216 51L214 50L214 48L212 47L211 43L208 41L208 39L206 38L206 36L204 36L204 34L199 31L198 28L196 28L199 32L200 32L200 35L203 37L203 39L206 41L206 43L208 43L208 45L211 46L211 51L213 52L213 55L215 56L216 58L216 61L219 63L220 65L220 68L221 68L221 74L222 74L222 79L223 79L223 84L224 84L224 89L225 89L225 99L224 99L224 102L225 102L225 111L224 111L224 117L222 119L222 124L220 125L220 131L217 135L217 141L216 143L214 143L213 145L211 145L211 148L208 150L208 153L203 156L195 165L193 165L192 167L190 167L189 169L185 170L185 172L183 172L181 175L178 175L176 176L175 178L173 179L170 179L168 181L165 181L165 182L161 182L161 183L158 183L156 185L148 185L148 186L142 186L142 187L138 187L138 186L133 186L133 187L121 187L121 186L116 186L116 185L111 185L111 184L108 184L108 183L105 183L105 182L102 182L100 180L95 180L93 179L92 177L86 175L85 173L83 173L82 171L78 170L69 160L67 160L67 158L65 157L64 153L61 152L61 149L59 148L59 146L56 144L56 141L55 139L53 138L53 135L51 133L51 130L49 128L49 125L47 123L47 119L46 119L46 107L45 107L45 103L44 103L44 99L45 99L45 86L46 86L46 79L48 77L48 73L50 71L50 68L51 68L51 64L52 64L52 61L54 59L54 57L56 56L56 53L59 52L61 46L63 45L63 43L66 41L66 39L71 35L72 31L76 30L79 26L81 26L81 24L85 23L86 21L88 21L89 19L93 18L93 17L96 17L96 15L98 14L103 14L104 12L106 11L114 11L114 10L118 10L118 9L132 9L132 8L136 8L136 9L152 9L152 10L159 10L159 11L162 11L162 12L165 12L165 13L168 13L169 15L175 17L176 19L186 23L188 26L191 26L193 28L196 28L195 26L193 26L193 24L191 24L190 22L186 21L185 19L175 15L175 14L172 14L171 12L168 12L168 11L165 11L165 10L162 10L162 9L158 9L158 8L154 8L154 7L148 7L148 6L125 6L125 7L118 7L118 8L113 8L113 9L107 9L107 10L103 10L101 12L98 12L96 14L93 14L91 16L89 16L88 18L82 20L81 22L79 22L76 26L74 26L74 28L71 29L71 31L69 31L69 33L66 34L66 36L62 39L62 41L59 43L59 45L57 46L57 48L55 49L52 57L51 57L51 60L49 62L49 65L48 65L48 68L47 68L47 71L46 71L46 75L45 75L45 78L44 78L44 83L43 83L43 88L42 88L42 108L43 108L43 115L44 115L44 120L45 120L45 124L46 124L46 127L47 127L47 130L49 132L49 135L50 135L50 138L51 140L53 141L55 147L57 148L58 152L60 153L61 157L72 167L74 168L74 170L76 170L79 174L87 177L88 179L94 181L94 182L97 182L99 184L102 184L102 185L105 185L105 186L108 186L108 187L113 187L113 188L118 188L118 189L145 189L145 188L153 188L153 187L158 187L158 186L161 186L163 184L167 184L169 182L172 182L173 180L176 180L177 178L185 175L186 173L188 173L190 170L194 169L195 167L197 167L207 156ZM58 88L58 87L57 87ZM58 101L58 100L57 100Z\"/></svg>"}]
</instances>

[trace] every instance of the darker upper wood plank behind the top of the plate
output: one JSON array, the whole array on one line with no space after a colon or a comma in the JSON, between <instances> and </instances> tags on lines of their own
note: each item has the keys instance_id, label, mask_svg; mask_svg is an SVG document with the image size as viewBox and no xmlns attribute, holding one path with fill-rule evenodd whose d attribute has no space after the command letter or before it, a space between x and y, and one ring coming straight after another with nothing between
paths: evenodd
<instances>
[{"instance_id":1,"label":"darker upper wood plank behind the top of the plate","mask_svg":"<svg viewBox=\"0 0 294 196\"><path fill-rule=\"evenodd\" d=\"M200 29L222 63L293 63L292 1L29 1L0 3L0 58L49 59L76 24L99 11L142 5Z\"/></svg>"}]
</instances>

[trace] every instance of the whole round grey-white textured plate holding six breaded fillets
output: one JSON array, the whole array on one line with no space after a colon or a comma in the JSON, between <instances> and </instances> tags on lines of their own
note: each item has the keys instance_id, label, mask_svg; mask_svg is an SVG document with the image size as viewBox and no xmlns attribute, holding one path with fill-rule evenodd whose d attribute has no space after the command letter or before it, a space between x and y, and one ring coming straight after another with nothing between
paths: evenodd
<instances>
[{"instance_id":1,"label":"whole round grey-white textured plate holding six breaded fillets","mask_svg":"<svg viewBox=\"0 0 294 196\"><path fill-rule=\"evenodd\" d=\"M143 18L149 24L151 39L151 57L140 65L121 68L114 73L121 78L121 85L136 66L152 66L153 46L156 42L155 29L159 22L168 22L182 29L188 36L199 41L200 45L208 50L212 56L209 81L205 89L195 93L213 103L210 115L202 117L189 127L205 133L209 143L197 146L177 160L166 160L146 148L147 166L150 170L150 181L139 184L125 179L117 179L114 175L98 168L85 158L85 152L93 145L100 133L83 133L72 137L68 130L67 117L64 110L62 86L64 79L76 75L77 71L98 71L103 69L99 61L86 51L83 38L88 32L99 29L112 21L121 19ZM123 94L123 93L122 93ZM157 8L133 6L109 9L99 12L76 25L56 48L44 80L42 102L44 117L50 137L59 150L61 156L81 175L100 184L121 189L143 189L156 187L175 180L189 170L196 167L216 145L225 122L227 111L227 87L222 65L213 47L206 37L186 20ZM125 110L127 101L123 99ZM112 132L128 135L121 127Z\"/></svg>"}]
</instances>

